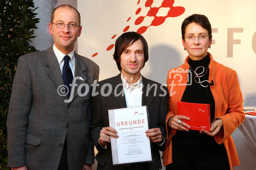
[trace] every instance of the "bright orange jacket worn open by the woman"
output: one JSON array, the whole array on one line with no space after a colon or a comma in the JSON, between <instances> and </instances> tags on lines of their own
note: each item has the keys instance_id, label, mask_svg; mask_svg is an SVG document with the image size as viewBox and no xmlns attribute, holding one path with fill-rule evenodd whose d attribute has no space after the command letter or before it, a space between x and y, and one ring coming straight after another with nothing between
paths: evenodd
<instances>
[{"instance_id":1,"label":"bright orange jacket worn open by the woman","mask_svg":"<svg viewBox=\"0 0 256 170\"><path fill-rule=\"evenodd\" d=\"M215 101L215 119L223 121L223 128L215 135L217 143L223 143L228 156L229 165L240 164L236 147L231 138L233 131L243 123L245 114L243 111L243 96L240 90L236 71L216 62L210 55L209 82L214 81L211 86L211 93ZM169 91L169 107L166 116L166 150L163 151L163 165L166 166L172 160L172 137L176 130L170 129L167 125L168 119L178 114L177 102L181 101L187 85L189 65L188 57L185 63L174 69L170 69L167 76L167 87ZM191 80L192 76L190 77ZM194 81L194 80L193 80ZM232 169L230 166L230 169Z\"/></svg>"}]
</instances>

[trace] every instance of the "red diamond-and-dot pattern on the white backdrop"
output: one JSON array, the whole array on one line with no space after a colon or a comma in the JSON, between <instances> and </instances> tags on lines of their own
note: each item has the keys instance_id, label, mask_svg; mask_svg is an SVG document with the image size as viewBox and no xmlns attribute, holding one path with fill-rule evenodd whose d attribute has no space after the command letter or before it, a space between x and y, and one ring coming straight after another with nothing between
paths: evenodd
<instances>
[{"instance_id":1,"label":"red diamond-and-dot pattern on the white backdrop","mask_svg":"<svg viewBox=\"0 0 256 170\"><path fill-rule=\"evenodd\" d=\"M137 33L139 33L139 34L143 34L144 32L146 32L148 27L162 25L162 23L164 23L165 19L168 18L168 17L177 17L177 16L180 16L181 14L183 14L185 12L184 7L174 7L173 6L174 5L174 0L163 0L160 7L151 7L153 2L154 2L154 0L147 0L145 2L145 7L149 7L150 10L148 10L148 12L145 16L139 16L134 22L134 24L137 26L137 25L140 25L143 22L145 17L147 17L147 16L151 16L151 17L153 16L154 17L154 19L152 20L152 22L149 26L141 26L137 30ZM139 3L140 3L140 0L138 0L137 5L139 5ZM160 8L170 8L170 9L169 9L166 16L156 16ZM135 14L138 15L140 12L141 12L141 8L138 8L136 10ZM128 22L130 19L131 19L131 16L127 19L126 22ZM130 28L130 26L126 26L123 29L123 32L128 31L129 28ZM116 34L113 35L111 39L114 39L115 37L116 37ZM114 46L115 46L114 44L109 45L106 48L106 51L110 51ZM98 53L95 53L94 55L92 55L92 57L95 57L97 55L98 55Z\"/></svg>"}]
</instances>

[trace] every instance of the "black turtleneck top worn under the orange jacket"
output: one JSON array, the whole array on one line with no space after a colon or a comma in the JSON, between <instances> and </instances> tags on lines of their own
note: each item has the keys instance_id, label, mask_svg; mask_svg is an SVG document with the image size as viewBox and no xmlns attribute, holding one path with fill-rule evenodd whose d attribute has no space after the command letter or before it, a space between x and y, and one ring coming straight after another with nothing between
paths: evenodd
<instances>
[{"instance_id":1,"label":"black turtleneck top worn under the orange jacket","mask_svg":"<svg viewBox=\"0 0 256 170\"><path fill-rule=\"evenodd\" d=\"M204 67L204 72L206 74L200 78L200 81L209 79L209 63L210 57L207 54L202 60L194 61L188 58L189 66L195 71L198 66ZM191 70L191 68L189 68ZM208 69L207 69L208 68ZM210 118L211 122L214 121L215 118L215 101L212 93L210 91L210 86L203 87L200 84L195 82L195 74L191 70L192 73L192 84L187 85L186 89L183 93L182 102L189 103L202 103L202 104L210 104ZM197 69L197 74L202 72L202 68ZM201 75L203 75L201 74ZM196 78L197 82L199 80ZM208 82L202 83L202 85L207 86ZM214 137L208 136L206 134L200 134L199 131L189 130L180 131L177 130L176 134L173 137L173 153L177 154L186 154L186 155L208 155L208 153L216 153L222 150L221 145L218 144ZM175 160L175 157L173 157Z\"/></svg>"}]
</instances>

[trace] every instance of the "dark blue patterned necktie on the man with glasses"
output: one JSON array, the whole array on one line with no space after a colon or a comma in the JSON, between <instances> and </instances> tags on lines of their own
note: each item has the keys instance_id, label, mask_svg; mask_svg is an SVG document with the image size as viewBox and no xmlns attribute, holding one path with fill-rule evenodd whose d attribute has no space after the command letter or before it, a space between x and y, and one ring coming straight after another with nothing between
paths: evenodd
<instances>
[{"instance_id":1,"label":"dark blue patterned necktie on the man with glasses","mask_svg":"<svg viewBox=\"0 0 256 170\"><path fill-rule=\"evenodd\" d=\"M72 81L73 81L73 74L72 74L71 68L69 66L69 60L70 60L69 56L64 57L64 65L62 68L63 82L64 82L65 86L67 86L69 88L69 92L67 94L68 98L70 97L70 92L71 92L70 84L72 84Z\"/></svg>"}]
</instances>

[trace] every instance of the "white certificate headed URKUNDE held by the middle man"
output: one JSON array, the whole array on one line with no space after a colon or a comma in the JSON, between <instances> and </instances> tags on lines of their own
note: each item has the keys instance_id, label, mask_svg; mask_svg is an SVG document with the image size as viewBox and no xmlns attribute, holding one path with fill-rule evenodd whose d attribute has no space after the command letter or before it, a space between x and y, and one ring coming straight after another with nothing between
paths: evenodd
<instances>
[{"instance_id":1,"label":"white certificate headed URKUNDE held by the middle man","mask_svg":"<svg viewBox=\"0 0 256 170\"><path fill-rule=\"evenodd\" d=\"M145 133L146 106L109 110L109 122L119 136L111 137L113 165L153 161L151 141Z\"/></svg>"}]
</instances>

